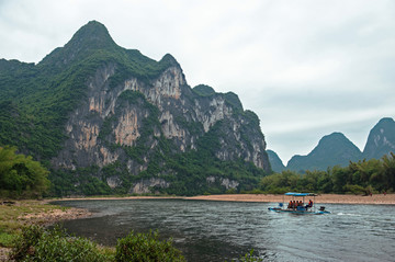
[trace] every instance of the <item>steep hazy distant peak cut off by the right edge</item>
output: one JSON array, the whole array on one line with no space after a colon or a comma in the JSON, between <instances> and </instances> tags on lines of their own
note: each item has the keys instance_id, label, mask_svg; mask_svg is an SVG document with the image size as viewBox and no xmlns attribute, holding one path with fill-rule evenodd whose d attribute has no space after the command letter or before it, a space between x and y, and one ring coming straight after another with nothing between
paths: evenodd
<instances>
[{"instance_id":1,"label":"steep hazy distant peak cut off by the right edge","mask_svg":"<svg viewBox=\"0 0 395 262\"><path fill-rule=\"evenodd\" d=\"M395 122L385 117L370 132L362 157L380 159L390 152L395 152Z\"/></svg>"}]
</instances>

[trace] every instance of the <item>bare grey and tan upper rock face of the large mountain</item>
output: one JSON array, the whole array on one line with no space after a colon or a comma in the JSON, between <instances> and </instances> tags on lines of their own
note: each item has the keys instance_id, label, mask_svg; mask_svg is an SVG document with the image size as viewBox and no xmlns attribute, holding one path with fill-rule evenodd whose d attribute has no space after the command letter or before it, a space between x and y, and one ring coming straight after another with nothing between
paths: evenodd
<instances>
[{"instance_id":1,"label":"bare grey and tan upper rock face of the large mountain","mask_svg":"<svg viewBox=\"0 0 395 262\"><path fill-rule=\"evenodd\" d=\"M226 103L224 94L204 98L194 94L187 86L182 70L178 66L168 68L148 84L131 78L123 84L110 89L108 80L114 70L114 65L106 65L98 69L95 76L88 82L88 98L69 117L66 125L69 139L65 149L53 159L54 163L74 169L76 166L94 163L101 167L114 162L120 158L120 152L117 150L111 152L103 143L105 139L99 138L103 124L115 117L109 134L112 138L109 137L108 140L133 147L144 128L143 119L150 114L144 103L150 103L157 106L159 112L160 128L157 126L154 129L155 137L162 135L172 139L180 151L195 149L200 136L207 133L217 122L226 121L223 127L226 137L221 137L217 158L234 160L242 157L246 161L267 169L266 143L261 132L253 129L258 127L251 123L258 121L253 113L248 114L252 114L256 119L242 114L234 115L235 110ZM122 103L120 95L125 91L142 93L144 96L140 96L136 103ZM190 129L188 123L193 123L195 128ZM241 139L247 135L250 140ZM233 148L236 144L239 149ZM155 146L153 140L149 147L155 148Z\"/></svg>"}]
</instances>

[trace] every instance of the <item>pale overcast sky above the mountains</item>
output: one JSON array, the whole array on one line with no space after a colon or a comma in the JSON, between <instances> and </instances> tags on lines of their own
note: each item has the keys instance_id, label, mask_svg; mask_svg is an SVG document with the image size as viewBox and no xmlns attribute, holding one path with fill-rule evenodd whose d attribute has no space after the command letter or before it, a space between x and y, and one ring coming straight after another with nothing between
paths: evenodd
<instances>
[{"instance_id":1,"label":"pale overcast sky above the mountains","mask_svg":"<svg viewBox=\"0 0 395 262\"><path fill-rule=\"evenodd\" d=\"M191 87L237 93L286 164L332 132L363 150L395 116L392 0L0 0L0 58L38 62L91 20Z\"/></svg>"}]
</instances>

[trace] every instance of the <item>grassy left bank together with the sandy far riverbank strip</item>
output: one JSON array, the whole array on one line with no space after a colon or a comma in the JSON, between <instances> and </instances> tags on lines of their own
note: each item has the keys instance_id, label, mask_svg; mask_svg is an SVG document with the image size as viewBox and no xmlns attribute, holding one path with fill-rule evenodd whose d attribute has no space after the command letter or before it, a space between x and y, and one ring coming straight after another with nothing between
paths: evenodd
<instances>
[{"instance_id":1,"label":"grassy left bank together with the sandy far riverbank strip","mask_svg":"<svg viewBox=\"0 0 395 262\"><path fill-rule=\"evenodd\" d=\"M55 201L104 201L104 200L188 200L188 201L227 201L227 202L261 202L276 203L287 201L289 197L273 194L224 194L200 196L123 196L123 197L74 197L53 198L45 201L15 201L4 203L0 200L0 261L7 261L11 239L26 225L48 226L61 220L88 217L91 214L87 209L70 208L49 204ZM305 200L306 201L306 200ZM316 197L317 204L369 204L369 205L395 205L395 194L338 195L321 194Z\"/></svg>"}]
</instances>

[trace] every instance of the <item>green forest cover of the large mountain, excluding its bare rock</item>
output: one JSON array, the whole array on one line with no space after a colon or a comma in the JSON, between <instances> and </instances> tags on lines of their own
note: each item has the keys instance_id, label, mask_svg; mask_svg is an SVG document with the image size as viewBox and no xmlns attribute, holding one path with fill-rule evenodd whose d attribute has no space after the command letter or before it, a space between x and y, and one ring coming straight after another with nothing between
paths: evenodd
<instances>
[{"instance_id":1,"label":"green forest cover of the large mountain, excluding its bare rock","mask_svg":"<svg viewBox=\"0 0 395 262\"><path fill-rule=\"evenodd\" d=\"M82 26L64 46L56 48L37 65L16 60L0 60L0 146L16 146L19 151L29 153L42 161L52 172L49 180L52 194L111 194L128 193L136 181L166 175L170 186L166 190L154 189L171 194L199 194L204 192L223 193L225 189L217 181L206 183L206 178L216 175L235 179L240 183L238 191L250 190L266 173L262 169L246 162L241 157L236 161L222 161L214 151L218 147L219 136L229 129L229 123L217 122L208 133L202 124L187 122L182 115L176 119L191 134L200 135L195 150L180 151L174 144L163 137L153 136L160 128L157 107L150 104L142 93L126 91L120 95L120 103L135 104L147 112L139 140L133 147L112 143L111 150L122 150L126 157L104 167L91 164L76 169L59 169L50 162L64 148L67 139L65 125L70 114L87 100L87 82L98 69L112 65L115 72L109 79L110 89L116 88L128 78L149 83L171 66L178 62L171 55L160 61L153 60L138 50L125 49L115 44L108 30L92 21ZM198 88L191 95L217 95L208 87ZM208 93L207 93L208 90ZM214 93L212 93L214 92ZM235 117L245 117L248 128L259 128L259 118L253 112L244 111L235 93L224 94L226 103L233 109ZM117 104L116 106L122 106ZM104 119L99 134L101 143L110 135L111 116ZM246 133L245 132L245 133ZM226 135L226 134L225 134ZM158 146L150 150L147 140L156 139ZM251 147L251 138L242 137ZM110 139L111 140L111 139ZM132 174L126 168L127 160L145 161L148 167L138 174ZM116 175L121 187L111 189L106 179Z\"/></svg>"}]
</instances>

